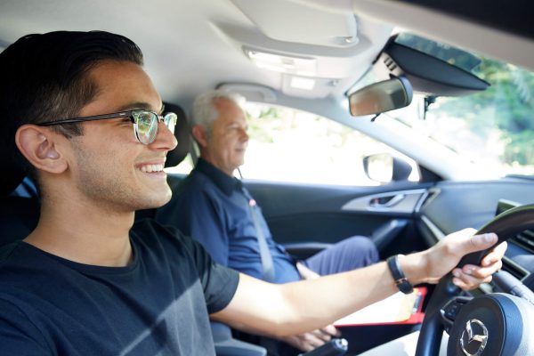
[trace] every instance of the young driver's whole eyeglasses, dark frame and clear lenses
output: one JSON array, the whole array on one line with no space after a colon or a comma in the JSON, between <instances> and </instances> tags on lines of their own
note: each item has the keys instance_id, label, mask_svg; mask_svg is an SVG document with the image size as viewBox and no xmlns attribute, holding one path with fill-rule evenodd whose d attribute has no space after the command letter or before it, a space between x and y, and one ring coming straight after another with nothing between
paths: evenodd
<instances>
[{"instance_id":1,"label":"young driver's whole eyeglasses, dark frame and clear lenses","mask_svg":"<svg viewBox=\"0 0 534 356\"><path fill-rule=\"evenodd\" d=\"M63 124L74 124L84 121L107 120L109 118L128 117L132 124L134 124L134 134L137 142L143 144L150 144L156 140L158 135L158 123L163 122L167 128L174 134L174 127L176 126L177 116L174 112L168 112L165 116L158 115L154 111L149 110L129 110L114 112L112 114L95 115L92 117L73 117L64 120L50 121L39 126L52 126Z\"/></svg>"}]
</instances>

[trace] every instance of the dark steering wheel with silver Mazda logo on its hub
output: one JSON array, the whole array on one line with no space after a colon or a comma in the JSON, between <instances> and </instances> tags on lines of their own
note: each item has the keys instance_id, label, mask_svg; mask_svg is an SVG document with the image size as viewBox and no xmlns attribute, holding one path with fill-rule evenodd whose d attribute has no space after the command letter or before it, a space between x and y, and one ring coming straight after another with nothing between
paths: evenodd
<instances>
[{"instance_id":1,"label":"dark steering wheel with silver Mazda logo on its hub","mask_svg":"<svg viewBox=\"0 0 534 356\"><path fill-rule=\"evenodd\" d=\"M493 246L495 247L518 233L532 228L534 228L534 205L517 206L499 214L477 231L477 234L495 232L498 235L498 242ZM482 257L487 255L493 247L465 255L458 263L458 267L465 264L479 264ZM449 333L448 355L534 354L533 343L525 339L534 326L532 304L514 295L500 293L467 300L457 296L460 292L461 289L452 283L450 272L435 287L417 340L416 356L438 355L446 322L441 314L450 312L451 308L454 315ZM448 302L448 306L443 311L442 308ZM475 343L472 343L473 340ZM469 346L469 343L475 345Z\"/></svg>"}]
</instances>

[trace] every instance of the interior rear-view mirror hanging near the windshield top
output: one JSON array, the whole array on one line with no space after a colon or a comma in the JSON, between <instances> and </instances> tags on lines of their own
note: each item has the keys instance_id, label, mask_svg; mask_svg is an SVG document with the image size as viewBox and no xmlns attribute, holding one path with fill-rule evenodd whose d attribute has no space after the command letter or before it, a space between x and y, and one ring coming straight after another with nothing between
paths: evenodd
<instances>
[{"instance_id":1,"label":"interior rear-view mirror hanging near the windshield top","mask_svg":"<svg viewBox=\"0 0 534 356\"><path fill-rule=\"evenodd\" d=\"M412 86L406 77L392 79L364 86L349 95L351 115L376 115L408 106L413 97Z\"/></svg>"}]
</instances>

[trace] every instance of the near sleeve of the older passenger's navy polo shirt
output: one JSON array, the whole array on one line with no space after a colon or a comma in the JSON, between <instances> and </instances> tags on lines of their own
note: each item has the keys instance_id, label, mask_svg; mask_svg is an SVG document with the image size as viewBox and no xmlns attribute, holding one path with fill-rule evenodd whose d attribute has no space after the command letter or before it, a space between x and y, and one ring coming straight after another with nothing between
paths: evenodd
<instances>
[{"instance_id":1,"label":"near sleeve of the older passenger's navy polo shirt","mask_svg":"<svg viewBox=\"0 0 534 356\"><path fill-rule=\"evenodd\" d=\"M156 220L196 239L217 263L228 265L229 242L222 206L209 191L188 191L158 209Z\"/></svg>"}]
</instances>

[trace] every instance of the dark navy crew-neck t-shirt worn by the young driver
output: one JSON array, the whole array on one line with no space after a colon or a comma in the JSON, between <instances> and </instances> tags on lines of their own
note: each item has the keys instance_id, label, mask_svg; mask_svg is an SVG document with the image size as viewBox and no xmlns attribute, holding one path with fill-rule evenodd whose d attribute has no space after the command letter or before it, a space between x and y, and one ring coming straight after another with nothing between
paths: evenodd
<instances>
[{"instance_id":1,"label":"dark navy crew-neck t-shirt worn by the young driver","mask_svg":"<svg viewBox=\"0 0 534 356\"><path fill-rule=\"evenodd\" d=\"M208 313L239 274L144 220L126 267L74 263L19 241L0 249L2 355L214 355Z\"/></svg>"}]
</instances>

